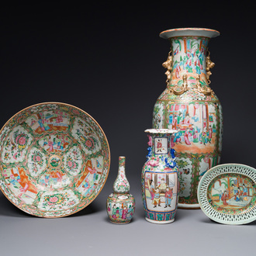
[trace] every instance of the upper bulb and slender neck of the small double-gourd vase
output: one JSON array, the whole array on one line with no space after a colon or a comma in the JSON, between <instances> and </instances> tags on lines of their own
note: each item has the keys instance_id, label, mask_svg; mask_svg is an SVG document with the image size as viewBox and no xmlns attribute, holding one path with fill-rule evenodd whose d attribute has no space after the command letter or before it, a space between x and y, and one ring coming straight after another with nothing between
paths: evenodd
<instances>
[{"instance_id":1,"label":"upper bulb and slender neck of the small double-gourd vase","mask_svg":"<svg viewBox=\"0 0 256 256\"><path fill-rule=\"evenodd\" d=\"M129 193L130 184L126 178L126 157L119 157L119 167L116 181L113 184L113 190L116 193Z\"/></svg>"}]
</instances>

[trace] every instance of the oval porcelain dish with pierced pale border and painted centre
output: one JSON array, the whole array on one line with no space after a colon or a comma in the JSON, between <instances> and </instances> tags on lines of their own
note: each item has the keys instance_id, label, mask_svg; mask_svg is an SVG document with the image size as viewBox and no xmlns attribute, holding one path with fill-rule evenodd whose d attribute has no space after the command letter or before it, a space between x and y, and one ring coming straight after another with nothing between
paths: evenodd
<instances>
[{"instance_id":1,"label":"oval porcelain dish with pierced pale border and painted centre","mask_svg":"<svg viewBox=\"0 0 256 256\"><path fill-rule=\"evenodd\" d=\"M220 164L199 182L199 205L210 219L223 224L256 220L256 169L244 164Z\"/></svg>"}]
</instances>

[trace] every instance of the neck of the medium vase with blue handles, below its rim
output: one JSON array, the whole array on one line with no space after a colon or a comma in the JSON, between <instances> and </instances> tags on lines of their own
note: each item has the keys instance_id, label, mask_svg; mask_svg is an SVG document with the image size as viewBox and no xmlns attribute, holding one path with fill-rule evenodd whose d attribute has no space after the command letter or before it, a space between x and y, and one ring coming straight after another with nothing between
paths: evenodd
<instances>
[{"instance_id":1,"label":"neck of the medium vase with blue handles, below its rim","mask_svg":"<svg viewBox=\"0 0 256 256\"><path fill-rule=\"evenodd\" d=\"M152 147L152 155L168 155L171 150L171 133L149 133L148 145Z\"/></svg>"}]
</instances>

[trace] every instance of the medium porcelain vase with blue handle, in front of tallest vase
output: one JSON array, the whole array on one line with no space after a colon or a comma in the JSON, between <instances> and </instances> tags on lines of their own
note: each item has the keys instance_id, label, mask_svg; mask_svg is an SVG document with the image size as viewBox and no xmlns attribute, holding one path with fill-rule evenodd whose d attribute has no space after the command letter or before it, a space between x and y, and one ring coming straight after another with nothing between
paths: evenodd
<instances>
[{"instance_id":1,"label":"medium porcelain vase with blue handle, in front of tallest vase","mask_svg":"<svg viewBox=\"0 0 256 256\"><path fill-rule=\"evenodd\" d=\"M171 223L178 204L178 168L175 150L171 149L174 130L149 129L148 154L141 184L146 220L151 223Z\"/></svg>"}]
</instances>

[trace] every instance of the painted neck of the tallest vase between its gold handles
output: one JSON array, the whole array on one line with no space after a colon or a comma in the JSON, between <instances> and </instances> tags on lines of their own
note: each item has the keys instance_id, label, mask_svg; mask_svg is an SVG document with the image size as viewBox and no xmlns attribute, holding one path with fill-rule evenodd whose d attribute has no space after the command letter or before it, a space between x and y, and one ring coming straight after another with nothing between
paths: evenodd
<instances>
[{"instance_id":1,"label":"painted neck of the tallest vase between its gold handles","mask_svg":"<svg viewBox=\"0 0 256 256\"><path fill-rule=\"evenodd\" d=\"M171 37L171 79L168 88L183 85L194 88L196 82L208 86L206 77L206 54L209 43L208 37L177 36Z\"/></svg>"}]
</instances>

